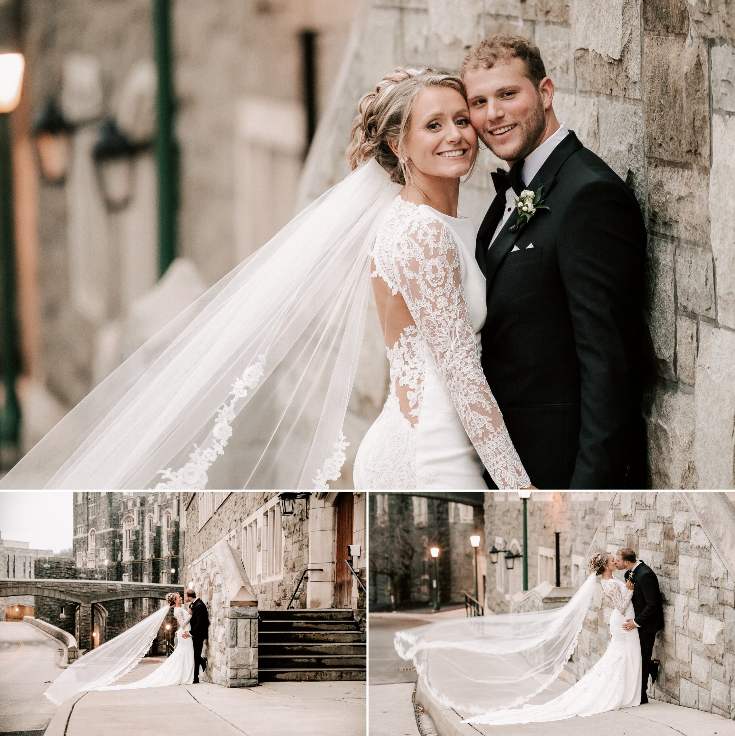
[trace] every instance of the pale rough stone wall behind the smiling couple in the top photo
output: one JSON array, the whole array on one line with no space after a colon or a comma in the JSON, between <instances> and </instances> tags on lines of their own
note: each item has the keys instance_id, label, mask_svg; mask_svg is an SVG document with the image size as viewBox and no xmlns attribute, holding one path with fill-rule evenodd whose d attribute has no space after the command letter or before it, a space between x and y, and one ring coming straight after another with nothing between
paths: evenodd
<instances>
[{"instance_id":1,"label":"pale rough stone wall behind the smiling couple in the top photo","mask_svg":"<svg viewBox=\"0 0 735 736\"><path fill-rule=\"evenodd\" d=\"M386 71L424 64L457 70L469 46L498 32L539 46L555 82L558 118L631 185L645 214L650 365L642 367L648 378L642 411L650 482L733 487L731 0L373 0L310 152L302 202L347 173L355 102ZM500 163L483 152L461 188L460 209L477 224L494 197L489 171ZM380 410L387 392L375 314L363 353L372 364L358 372L359 403L348 416L353 450L360 420Z\"/></svg>"}]
</instances>

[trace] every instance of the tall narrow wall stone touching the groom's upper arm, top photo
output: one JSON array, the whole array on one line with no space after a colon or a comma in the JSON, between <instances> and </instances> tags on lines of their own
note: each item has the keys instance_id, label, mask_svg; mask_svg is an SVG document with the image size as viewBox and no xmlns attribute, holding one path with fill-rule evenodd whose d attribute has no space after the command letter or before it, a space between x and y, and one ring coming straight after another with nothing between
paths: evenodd
<instances>
[{"instance_id":1,"label":"tall narrow wall stone touching the groom's upper arm, top photo","mask_svg":"<svg viewBox=\"0 0 735 736\"><path fill-rule=\"evenodd\" d=\"M649 238L645 281L645 314L656 372L661 378L673 379L676 339L673 244L660 238Z\"/></svg>"}]
</instances>

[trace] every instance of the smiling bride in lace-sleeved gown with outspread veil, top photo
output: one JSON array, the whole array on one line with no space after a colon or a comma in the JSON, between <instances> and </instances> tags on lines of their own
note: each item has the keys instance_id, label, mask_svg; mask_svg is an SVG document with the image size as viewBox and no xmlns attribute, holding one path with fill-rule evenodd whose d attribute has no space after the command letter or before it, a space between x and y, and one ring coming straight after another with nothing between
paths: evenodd
<instances>
[{"instance_id":1,"label":"smiling bride in lace-sleeved gown with outspread veil, top photo","mask_svg":"<svg viewBox=\"0 0 735 736\"><path fill-rule=\"evenodd\" d=\"M172 320L0 481L6 488L316 488L340 475L371 290L390 363L362 489L530 486L488 386L486 287L458 216L477 155L461 79L363 96L352 170ZM372 278L371 278L372 277Z\"/></svg>"}]
</instances>

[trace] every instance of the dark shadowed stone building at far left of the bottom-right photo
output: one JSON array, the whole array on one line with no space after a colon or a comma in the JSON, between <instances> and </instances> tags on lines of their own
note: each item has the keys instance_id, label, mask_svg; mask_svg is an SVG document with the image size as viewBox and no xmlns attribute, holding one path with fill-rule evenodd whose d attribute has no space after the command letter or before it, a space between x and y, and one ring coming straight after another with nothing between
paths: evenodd
<instances>
[{"instance_id":1,"label":"dark shadowed stone building at far left of the bottom-right photo","mask_svg":"<svg viewBox=\"0 0 735 736\"><path fill-rule=\"evenodd\" d=\"M480 536L477 586L486 585L483 506L409 493L371 493L369 601L372 610L433 605L436 578L430 548L437 546L439 604L461 603L475 595L475 556L469 537ZM468 495L465 493L463 495ZM477 503L482 495L477 493ZM397 531L398 530L398 531ZM405 543L396 545L396 535Z\"/></svg>"}]
</instances>

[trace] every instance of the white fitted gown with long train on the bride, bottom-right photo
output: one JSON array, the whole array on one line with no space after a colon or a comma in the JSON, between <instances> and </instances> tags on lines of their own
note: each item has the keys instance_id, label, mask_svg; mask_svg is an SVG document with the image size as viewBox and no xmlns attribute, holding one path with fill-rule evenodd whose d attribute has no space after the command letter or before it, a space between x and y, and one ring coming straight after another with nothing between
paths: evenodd
<instances>
[{"instance_id":1,"label":"white fitted gown with long train on the bride, bottom-right photo","mask_svg":"<svg viewBox=\"0 0 735 736\"><path fill-rule=\"evenodd\" d=\"M595 715L608 710L629 708L641 703L641 645L638 629L625 631L622 624L633 618L633 591L617 578L600 584L614 611L610 615L611 639L608 648L594 667L575 685L542 705L525 705L512 710L496 710L468 718L468 723L536 723L561 721L575 715Z\"/></svg>"}]
</instances>

